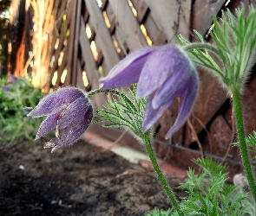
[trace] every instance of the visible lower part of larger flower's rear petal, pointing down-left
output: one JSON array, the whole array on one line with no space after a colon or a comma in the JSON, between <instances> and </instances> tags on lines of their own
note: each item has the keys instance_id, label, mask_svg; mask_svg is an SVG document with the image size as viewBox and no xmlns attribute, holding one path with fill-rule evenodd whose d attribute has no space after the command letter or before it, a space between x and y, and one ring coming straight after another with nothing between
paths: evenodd
<instances>
[{"instance_id":1,"label":"visible lower part of larger flower's rear petal, pointing down-left","mask_svg":"<svg viewBox=\"0 0 256 216\"><path fill-rule=\"evenodd\" d=\"M167 110L167 108L173 103L173 101L168 101L167 104L161 105L159 108L154 109L152 107L152 100L154 98L154 94L151 94L148 96L148 102L146 105L146 111L144 114L144 121L142 123L142 130L145 132L148 130L151 126L153 126L159 118L161 118L161 115L164 111Z\"/></svg>"}]
</instances>

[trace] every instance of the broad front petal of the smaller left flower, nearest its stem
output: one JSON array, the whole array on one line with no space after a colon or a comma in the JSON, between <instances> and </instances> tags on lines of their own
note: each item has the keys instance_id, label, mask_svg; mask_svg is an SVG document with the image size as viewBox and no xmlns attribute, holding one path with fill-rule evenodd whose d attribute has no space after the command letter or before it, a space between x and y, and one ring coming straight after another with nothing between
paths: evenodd
<instances>
[{"instance_id":1,"label":"broad front petal of the smaller left flower, nearest its stem","mask_svg":"<svg viewBox=\"0 0 256 216\"><path fill-rule=\"evenodd\" d=\"M58 119L59 130L66 127L72 127L82 121L85 113L91 106L89 99L84 96L75 99L64 111Z\"/></svg>"}]
</instances>

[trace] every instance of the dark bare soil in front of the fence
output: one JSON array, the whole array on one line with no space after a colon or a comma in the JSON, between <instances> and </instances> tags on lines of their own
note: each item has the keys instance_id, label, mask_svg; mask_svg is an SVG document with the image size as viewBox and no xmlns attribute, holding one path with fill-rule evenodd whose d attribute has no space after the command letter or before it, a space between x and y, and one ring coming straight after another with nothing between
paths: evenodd
<instances>
[{"instance_id":1,"label":"dark bare soil in front of the fence","mask_svg":"<svg viewBox=\"0 0 256 216\"><path fill-rule=\"evenodd\" d=\"M153 172L111 151L80 141L50 153L43 143L0 150L0 215L143 215L170 206Z\"/></svg>"}]
</instances>

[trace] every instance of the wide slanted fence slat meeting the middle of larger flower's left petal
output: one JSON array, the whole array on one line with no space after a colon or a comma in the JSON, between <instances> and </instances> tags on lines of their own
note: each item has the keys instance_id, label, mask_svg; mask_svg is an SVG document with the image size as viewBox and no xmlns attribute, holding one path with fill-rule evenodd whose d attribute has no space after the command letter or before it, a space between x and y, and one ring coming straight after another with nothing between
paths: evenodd
<instances>
[{"instance_id":1,"label":"wide slanted fence slat meeting the middle of larger flower's left petal","mask_svg":"<svg viewBox=\"0 0 256 216\"><path fill-rule=\"evenodd\" d=\"M109 0L109 3L115 11L115 17L117 16L117 22L119 23L115 28L122 29L122 32L126 36L129 50L135 51L141 47L148 47L148 43L141 32L139 23L133 15L128 2L126 0Z\"/></svg>"}]
</instances>

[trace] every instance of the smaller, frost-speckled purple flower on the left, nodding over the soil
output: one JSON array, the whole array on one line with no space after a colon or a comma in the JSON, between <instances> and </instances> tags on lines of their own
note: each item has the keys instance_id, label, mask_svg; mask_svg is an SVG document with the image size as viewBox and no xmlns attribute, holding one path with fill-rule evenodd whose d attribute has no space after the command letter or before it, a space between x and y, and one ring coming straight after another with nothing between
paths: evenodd
<instances>
[{"instance_id":1,"label":"smaller, frost-speckled purple flower on the left, nodding over the soil","mask_svg":"<svg viewBox=\"0 0 256 216\"><path fill-rule=\"evenodd\" d=\"M56 130L56 138L45 143L52 151L75 143L88 129L93 118L89 98L75 87L62 88L40 100L28 114L31 118L47 116L40 125L36 139Z\"/></svg>"}]
</instances>

